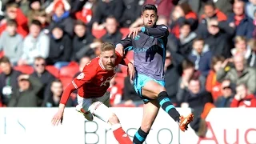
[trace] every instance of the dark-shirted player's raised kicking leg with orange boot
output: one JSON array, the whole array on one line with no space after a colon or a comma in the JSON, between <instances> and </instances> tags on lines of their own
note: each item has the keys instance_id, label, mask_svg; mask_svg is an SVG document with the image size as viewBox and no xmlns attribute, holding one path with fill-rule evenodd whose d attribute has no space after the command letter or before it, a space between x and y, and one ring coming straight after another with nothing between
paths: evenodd
<instances>
[{"instance_id":1,"label":"dark-shirted player's raised kicking leg with orange boot","mask_svg":"<svg viewBox=\"0 0 256 144\"><path fill-rule=\"evenodd\" d=\"M188 124L193 121L193 114L189 114L187 117L181 117L175 106L172 104L172 102L170 102L170 98L165 87L162 86L163 84L160 85L159 83L155 82L154 80L146 82L146 84L142 87L142 95L147 98L157 99L162 109L165 110L175 122L179 123L182 131L185 131Z\"/></svg>"}]
</instances>

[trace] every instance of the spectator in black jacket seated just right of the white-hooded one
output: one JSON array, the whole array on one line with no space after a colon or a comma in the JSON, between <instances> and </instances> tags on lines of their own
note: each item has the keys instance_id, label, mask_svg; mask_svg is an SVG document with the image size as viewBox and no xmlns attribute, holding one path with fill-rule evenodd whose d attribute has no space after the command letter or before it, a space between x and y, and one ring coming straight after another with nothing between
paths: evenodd
<instances>
[{"instance_id":1,"label":"spectator in black jacket seated just right of the white-hooded one","mask_svg":"<svg viewBox=\"0 0 256 144\"><path fill-rule=\"evenodd\" d=\"M46 58L47 65L54 65L61 69L70 62L70 54L72 52L72 42L70 37L64 32L60 25L54 26L50 38L49 57Z\"/></svg>"}]
</instances>

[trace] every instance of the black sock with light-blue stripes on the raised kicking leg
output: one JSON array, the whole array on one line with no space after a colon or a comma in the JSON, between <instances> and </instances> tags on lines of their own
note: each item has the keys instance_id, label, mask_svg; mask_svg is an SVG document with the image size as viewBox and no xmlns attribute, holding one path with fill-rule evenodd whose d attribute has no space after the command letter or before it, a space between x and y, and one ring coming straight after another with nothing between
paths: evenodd
<instances>
[{"instance_id":1,"label":"black sock with light-blue stripes on the raised kicking leg","mask_svg":"<svg viewBox=\"0 0 256 144\"><path fill-rule=\"evenodd\" d=\"M170 102L170 98L168 97L166 91L162 91L158 94L158 102L162 109L165 110L175 122L179 122L180 114Z\"/></svg>"}]
</instances>

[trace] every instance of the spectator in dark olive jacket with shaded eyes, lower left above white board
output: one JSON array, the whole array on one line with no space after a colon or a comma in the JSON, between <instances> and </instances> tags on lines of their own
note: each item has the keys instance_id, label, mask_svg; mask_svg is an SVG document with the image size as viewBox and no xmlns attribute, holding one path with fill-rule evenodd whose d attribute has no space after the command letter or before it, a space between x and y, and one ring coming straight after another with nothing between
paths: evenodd
<instances>
[{"instance_id":1,"label":"spectator in dark olive jacket with shaded eyes, lower left above white board","mask_svg":"<svg viewBox=\"0 0 256 144\"><path fill-rule=\"evenodd\" d=\"M10 98L8 107L37 107L40 99L38 92L42 88L42 83L38 78L28 74L18 77L18 89L14 90Z\"/></svg>"}]
</instances>

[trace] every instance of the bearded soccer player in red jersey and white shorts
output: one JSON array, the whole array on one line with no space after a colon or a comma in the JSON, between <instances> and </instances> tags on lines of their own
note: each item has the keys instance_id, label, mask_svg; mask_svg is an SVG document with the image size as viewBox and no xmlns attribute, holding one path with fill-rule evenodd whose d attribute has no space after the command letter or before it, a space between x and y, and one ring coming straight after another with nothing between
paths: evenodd
<instances>
[{"instance_id":1,"label":"bearded soccer player in red jersey and white shorts","mask_svg":"<svg viewBox=\"0 0 256 144\"><path fill-rule=\"evenodd\" d=\"M118 64L128 66L130 78L134 75L134 66L120 54L115 52L114 45L103 43L101 54L87 63L82 73L66 87L62 94L57 114L52 119L53 125L62 122L63 112L72 91L78 89L78 106L76 110L84 114L85 118L92 121L94 116L111 125L114 137L120 144L132 144L118 120L116 114L109 109L110 93L106 90L110 86L110 80L114 77Z\"/></svg>"}]
</instances>

